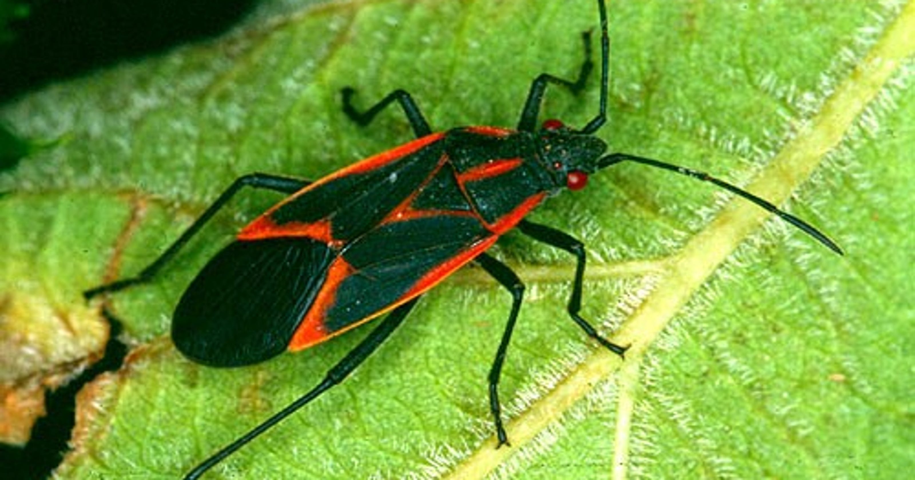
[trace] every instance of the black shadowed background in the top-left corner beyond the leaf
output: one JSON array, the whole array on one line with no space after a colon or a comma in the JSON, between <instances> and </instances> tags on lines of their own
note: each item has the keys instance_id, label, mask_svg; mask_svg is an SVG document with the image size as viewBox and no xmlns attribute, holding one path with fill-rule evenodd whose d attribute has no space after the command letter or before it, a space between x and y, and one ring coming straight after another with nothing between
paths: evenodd
<instances>
[{"instance_id":1,"label":"black shadowed background in the top-left corner beyond the leaf","mask_svg":"<svg viewBox=\"0 0 915 480\"><path fill-rule=\"evenodd\" d=\"M224 32L257 0L0 0L0 104Z\"/></svg>"}]
</instances>

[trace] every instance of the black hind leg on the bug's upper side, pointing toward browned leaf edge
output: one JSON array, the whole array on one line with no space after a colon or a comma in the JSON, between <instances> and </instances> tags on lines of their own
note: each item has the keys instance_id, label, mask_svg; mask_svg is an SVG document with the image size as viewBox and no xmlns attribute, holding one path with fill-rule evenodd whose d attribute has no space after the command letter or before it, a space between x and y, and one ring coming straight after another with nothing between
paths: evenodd
<instances>
[{"instance_id":1,"label":"black hind leg on the bug's upper side, pointing toward browned leaf edge","mask_svg":"<svg viewBox=\"0 0 915 480\"><path fill-rule=\"evenodd\" d=\"M233 197L239 190L241 190L242 187L264 188L285 194L293 194L296 191L306 187L310 183L311 182L306 180L299 180L296 178L259 173L240 176L236 178L234 182L232 182L229 188L226 188L226 190L222 192L220 197L216 198L216 201L214 201L212 205L210 205L210 207L203 212L203 215L200 215L199 219L194 220L194 223L192 223L190 227L188 227L188 229L185 230L185 232L182 233L180 237L178 237L178 240L175 240L175 243L172 243L171 246L162 253L162 255L159 255L159 258L157 258L156 261L153 261L148 266L146 266L142 272L138 273L134 277L124 278L121 280L116 280L112 283L105 283L103 285L97 286L83 292L82 296L88 300L98 295L99 293L117 292L119 290L124 290L124 288L127 288L131 285L135 285L137 283L145 283L151 280L153 276L156 275L156 272L158 272L169 260L171 260L171 258L174 257L179 250L181 250L181 247L188 243L188 240L190 240L191 237L193 237L199 231L199 229L203 227L203 225L207 223L207 221L210 220L213 215L215 215L216 212L219 211L219 209L222 208L226 202L231 199L231 197Z\"/></svg>"}]
</instances>

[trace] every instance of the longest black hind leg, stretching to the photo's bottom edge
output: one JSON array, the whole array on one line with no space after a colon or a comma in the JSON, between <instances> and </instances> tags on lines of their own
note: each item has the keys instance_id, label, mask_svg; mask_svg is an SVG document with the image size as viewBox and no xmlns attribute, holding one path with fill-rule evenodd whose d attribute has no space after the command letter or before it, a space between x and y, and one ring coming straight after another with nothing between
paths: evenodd
<instances>
[{"instance_id":1,"label":"longest black hind leg, stretching to the photo's bottom edge","mask_svg":"<svg viewBox=\"0 0 915 480\"><path fill-rule=\"evenodd\" d=\"M307 405L311 400L317 399L322 393L339 384L343 379L346 379L354 369L359 367L361 363L380 347L384 340L386 340L388 336L391 336L393 331L404 322L404 318L410 313L410 310L413 309L417 300L419 300L419 297L398 306L390 314L384 317L382 325L378 325L359 345L350 350L350 353L348 353L346 357L343 357L337 365L330 368L327 375L321 380L321 383L319 383L318 386L314 389L310 389L305 395L299 397L298 400L286 406L285 409L274 413L273 417L270 417L260 425L254 427L253 430L245 433L237 440L194 467L194 469L184 477L185 480L199 478L200 475L203 475L207 470L210 470L213 465L219 464L222 459L242 448L246 443L254 440L258 435L266 432L276 423L283 421L286 417Z\"/></svg>"}]
</instances>

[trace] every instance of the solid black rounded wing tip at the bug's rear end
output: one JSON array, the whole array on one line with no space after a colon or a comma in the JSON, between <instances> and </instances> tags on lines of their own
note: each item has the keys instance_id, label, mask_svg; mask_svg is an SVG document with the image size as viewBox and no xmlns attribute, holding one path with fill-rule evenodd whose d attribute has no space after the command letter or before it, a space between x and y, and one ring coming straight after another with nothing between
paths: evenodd
<instances>
[{"instance_id":1,"label":"solid black rounded wing tip at the bug's rear end","mask_svg":"<svg viewBox=\"0 0 915 480\"><path fill-rule=\"evenodd\" d=\"M181 297L172 339L212 367L252 365L285 351L335 253L303 238L235 241Z\"/></svg>"}]
</instances>

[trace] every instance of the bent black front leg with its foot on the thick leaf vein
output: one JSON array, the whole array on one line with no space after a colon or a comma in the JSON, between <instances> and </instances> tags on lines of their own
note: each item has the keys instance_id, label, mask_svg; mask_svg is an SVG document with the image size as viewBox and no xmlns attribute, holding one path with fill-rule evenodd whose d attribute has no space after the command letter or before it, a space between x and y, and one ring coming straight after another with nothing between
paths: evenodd
<instances>
[{"instance_id":1,"label":"bent black front leg with its foot on the thick leaf vein","mask_svg":"<svg viewBox=\"0 0 915 480\"><path fill-rule=\"evenodd\" d=\"M581 310L582 284L585 281L585 244L563 231L527 220L522 220L518 224L518 229L520 229L523 234L533 238L533 240L543 241L547 245L568 251L576 256L578 261L575 269L575 282L572 284L572 296L569 298L568 303L568 313L572 316L572 320L575 320L575 323L578 324L582 330L585 330L587 336L594 338L600 345L607 347L611 352L622 357L623 352L625 352L628 347L620 347L603 336L598 335L597 330L588 324L587 320L582 318L581 315L578 315L578 312Z\"/></svg>"}]
</instances>

